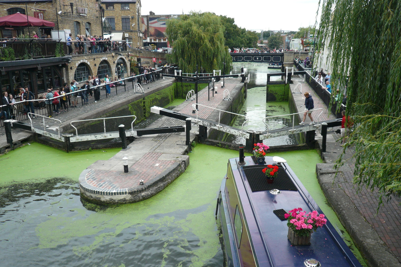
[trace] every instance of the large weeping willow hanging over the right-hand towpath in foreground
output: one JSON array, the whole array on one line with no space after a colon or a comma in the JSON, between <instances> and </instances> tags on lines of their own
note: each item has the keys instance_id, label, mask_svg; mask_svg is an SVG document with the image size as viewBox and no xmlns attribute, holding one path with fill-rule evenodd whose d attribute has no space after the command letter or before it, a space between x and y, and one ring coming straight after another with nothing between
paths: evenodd
<instances>
[{"instance_id":1,"label":"large weeping willow hanging over the right-hand towpath in foreground","mask_svg":"<svg viewBox=\"0 0 401 267\"><path fill-rule=\"evenodd\" d=\"M401 195L401 1L322 0L318 51L334 88L346 87L356 128L354 182ZM319 54L317 54L319 56ZM344 90L343 90L344 91ZM342 92L341 92L342 93ZM341 157L336 167L340 167Z\"/></svg>"}]
</instances>

